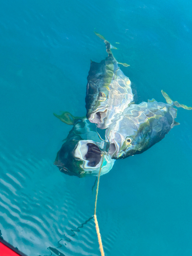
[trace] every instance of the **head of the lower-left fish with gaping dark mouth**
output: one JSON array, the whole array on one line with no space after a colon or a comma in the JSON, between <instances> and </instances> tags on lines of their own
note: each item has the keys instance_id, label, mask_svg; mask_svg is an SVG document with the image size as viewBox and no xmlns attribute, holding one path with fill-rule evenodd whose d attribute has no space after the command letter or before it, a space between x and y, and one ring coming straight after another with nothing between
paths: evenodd
<instances>
[{"instance_id":1,"label":"head of the lower-left fish with gaping dark mouth","mask_svg":"<svg viewBox=\"0 0 192 256\"><path fill-rule=\"evenodd\" d=\"M98 176L108 173L115 162L109 154L103 154L93 140L67 140L57 153L54 164L67 175ZM103 160L102 160L103 157Z\"/></svg>"}]
</instances>

